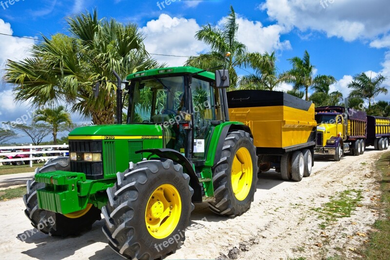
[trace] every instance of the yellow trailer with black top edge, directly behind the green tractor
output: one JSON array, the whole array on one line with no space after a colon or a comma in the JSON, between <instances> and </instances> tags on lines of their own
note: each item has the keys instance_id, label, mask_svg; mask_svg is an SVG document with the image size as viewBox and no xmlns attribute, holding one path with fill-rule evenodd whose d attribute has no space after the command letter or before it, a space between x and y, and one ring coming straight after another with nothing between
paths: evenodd
<instances>
[{"instance_id":1,"label":"yellow trailer with black top edge, directly behind the green tractor","mask_svg":"<svg viewBox=\"0 0 390 260\"><path fill-rule=\"evenodd\" d=\"M314 165L314 104L283 92L227 93L231 120L251 129L259 171L274 168L283 180L301 181Z\"/></svg>"}]
</instances>

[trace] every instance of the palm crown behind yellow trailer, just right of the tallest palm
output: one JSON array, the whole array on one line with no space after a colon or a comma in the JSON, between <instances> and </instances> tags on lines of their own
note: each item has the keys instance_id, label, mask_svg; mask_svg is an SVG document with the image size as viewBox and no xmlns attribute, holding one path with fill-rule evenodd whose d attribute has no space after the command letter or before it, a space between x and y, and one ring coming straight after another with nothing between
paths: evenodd
<instances>
[{"instance_id":1,"label":"palm crown behind yellow trailer, just right of the tallest palm","mask_svg":"<svg viewBox=\"0 0 390 260\"><path fill-rule=\"evenodd\" d=\"M271 55L266 52L262 56L258 53L250 53L248 56L250 66L254 68L255 73L241 78L240 89L273 91L288 79L288 75L277 73L275 52Z\"/></svg>"}]
</instances>

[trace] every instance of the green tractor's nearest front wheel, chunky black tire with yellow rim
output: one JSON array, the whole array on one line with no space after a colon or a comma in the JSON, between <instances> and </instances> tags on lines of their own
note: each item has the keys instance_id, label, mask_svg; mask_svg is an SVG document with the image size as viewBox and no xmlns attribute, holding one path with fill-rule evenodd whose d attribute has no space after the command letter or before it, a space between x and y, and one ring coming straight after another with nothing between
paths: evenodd
<instances>
[{"instance_id":1,"label":"green tractor's nearest front wheel, chunky black tire with yellow rim","mask_svg":"<svg viewBox=\"0 0 390 260\"><path fill-rule=\"evenodd\" d=\"M107 189L103 233L110 247L128 259L163 259L185 240L194 209L190 176L172 160L130 163Z\"/></svg>"}]
</instances>

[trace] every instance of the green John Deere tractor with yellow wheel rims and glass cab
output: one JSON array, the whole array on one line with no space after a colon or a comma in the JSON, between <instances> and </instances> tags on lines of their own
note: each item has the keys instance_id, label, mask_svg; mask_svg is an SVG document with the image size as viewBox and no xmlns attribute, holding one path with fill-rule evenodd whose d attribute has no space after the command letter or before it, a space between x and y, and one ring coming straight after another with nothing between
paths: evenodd
<instances>
[{"instance_id":1,"label":"green John Deere tractor with yellow wheel rims and glass cab","mask_svg":"<svg viewBox=\"0 0 390 260\"><path fill-rule=\"evenodd\" d=\"M253 136L229 121L227 70L173 67L126 79L123 93L117 88L117 124L73 130L69 157L49 160L27 182L25 213L39 231L61 237L90 229L103 214L117 253L164 258L184 241L194 203L224 216L249 209L258 171Z\"/></svg>"}]
</instances>

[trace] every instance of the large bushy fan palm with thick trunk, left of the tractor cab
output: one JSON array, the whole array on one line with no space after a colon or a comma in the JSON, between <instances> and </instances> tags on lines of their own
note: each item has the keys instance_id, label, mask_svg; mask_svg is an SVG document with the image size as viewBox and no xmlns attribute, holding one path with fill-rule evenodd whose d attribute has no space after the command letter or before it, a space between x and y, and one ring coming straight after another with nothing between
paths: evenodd
<instances>
[{"instance_id":1,"label":"large bushy fan palm with thick trunk, left of the tractor cab","mask_svg":"<svg viewBox=\"0 0 390 260\"><path fill-rule=\"evenodd\" d=\"M71 111L92 117L94 124L113 124L117 86L112 70L124 77L159 67L142 43L136 24L98 19L97 10L67 19L70 36L43 37L32 47L32 57L7 61L5 79L15 85L15 99L41 107L60 101L72 104ZM93 85L102 81L94 98Z\"/></svg>"}]
</instances>

